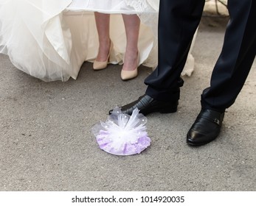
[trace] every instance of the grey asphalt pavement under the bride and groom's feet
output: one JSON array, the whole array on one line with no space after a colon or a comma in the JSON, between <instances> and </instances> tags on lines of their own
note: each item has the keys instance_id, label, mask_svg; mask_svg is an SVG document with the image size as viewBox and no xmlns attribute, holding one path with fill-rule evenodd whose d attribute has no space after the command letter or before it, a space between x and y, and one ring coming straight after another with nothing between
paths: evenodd
<instances>
[{"instance_id":1,"label":"grey asphalt pavement under the bride and groom's feet","mask_svg":"<svg viewBox=\"0 0 256 206\"><path fill-rule=\"evenodd\" d=\"M224 38L226 18L204 17L184 77L179 111L148 115L151 146L120 157L100 150L91 127L108 110L145 92L151 73L120 79L121 65L92 71L84 63L77 80L42 82L0 55L0 191L255 191L256 64L235 104L226 111L221 135L190 147L187 130L200 110L201 91Z\"/></svg>"}]
</instances>

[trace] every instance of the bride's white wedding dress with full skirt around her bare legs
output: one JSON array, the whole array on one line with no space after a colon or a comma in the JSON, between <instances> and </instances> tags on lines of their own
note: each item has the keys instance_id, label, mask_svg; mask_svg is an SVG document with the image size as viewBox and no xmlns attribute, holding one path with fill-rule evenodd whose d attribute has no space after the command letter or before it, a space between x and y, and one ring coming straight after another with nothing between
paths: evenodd
<instances>
[{"instance_id":1,"label":"bride's white wedding dress with full skirt around her bare legs","mask_svg":"<svg viewBox=\"0 0 256 206\"><path fill-rule=\"evenodd\" d=\"M122 15L139 15L139 64L157 65L159 0L0 0L0 53L15 67L44 81L77 78L84 61L97 57L94 11L112 13L111 63L123 63Z\"/></svg>"}]
</instances>

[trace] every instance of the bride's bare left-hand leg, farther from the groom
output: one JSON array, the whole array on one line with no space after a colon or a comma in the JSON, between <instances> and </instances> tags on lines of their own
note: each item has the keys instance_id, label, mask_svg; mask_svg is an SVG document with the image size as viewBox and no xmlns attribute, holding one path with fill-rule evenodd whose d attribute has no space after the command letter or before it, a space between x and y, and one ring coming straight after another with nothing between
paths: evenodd
<instances>
[{"instance_id":1,"label":"bride's bare left-hand leg, farther from the groom","mask_svg":"<svg viewBox=\"0 0 256 206\"><path fill-rule=\"evenodd\" d=\"M99 51L96 60L99 62L107 61L109 49L110 49L110 38L109 38L109 14L94 13L97 32L99 36Z\"/></svg>"}]
</instances>

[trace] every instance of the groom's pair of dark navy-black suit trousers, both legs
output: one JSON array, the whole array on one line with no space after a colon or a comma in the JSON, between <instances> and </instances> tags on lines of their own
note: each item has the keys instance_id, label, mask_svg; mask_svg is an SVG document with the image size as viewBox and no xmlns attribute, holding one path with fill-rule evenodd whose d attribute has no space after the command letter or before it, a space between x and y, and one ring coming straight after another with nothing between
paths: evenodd
<instances>
[{"instance_id":1,"label":"groom's pair of dark navy-black suit trousers, both legs","mask_svg":"<svg viewBox=\"0 0 256 206\"><path fill-rule=\"evenodd\" d=\"M256 1L229 0L224 45L212 71L210 88L201 95L204 108L224 111L234 102L256 54ZM153 99L179 99L181 71L204 9L204 0L160 0L159 63L145 79Z\"/></svg>"}]
</instances>

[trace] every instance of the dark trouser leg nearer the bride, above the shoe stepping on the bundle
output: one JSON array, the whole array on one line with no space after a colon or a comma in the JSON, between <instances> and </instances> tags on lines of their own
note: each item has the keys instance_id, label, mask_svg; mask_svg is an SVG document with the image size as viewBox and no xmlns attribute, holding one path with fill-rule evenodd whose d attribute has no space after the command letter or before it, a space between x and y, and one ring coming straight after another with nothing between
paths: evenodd
<instances>
[{"instance_id":1,"label":"dark trouser leg nearer the bride, above the shoe stepping on the bundle","mask_svg":"<svg viewBox=\"0 0 256 206\"><path fill-rule=\"evenodd\" d=\"M173 93L183 85L180 84L181 72L203 9L204 0L160 1L159 63L156 70L145 79L148 85L146 93L153 99L162 101L176 98Z\"/></svg>"}]
</instances>

